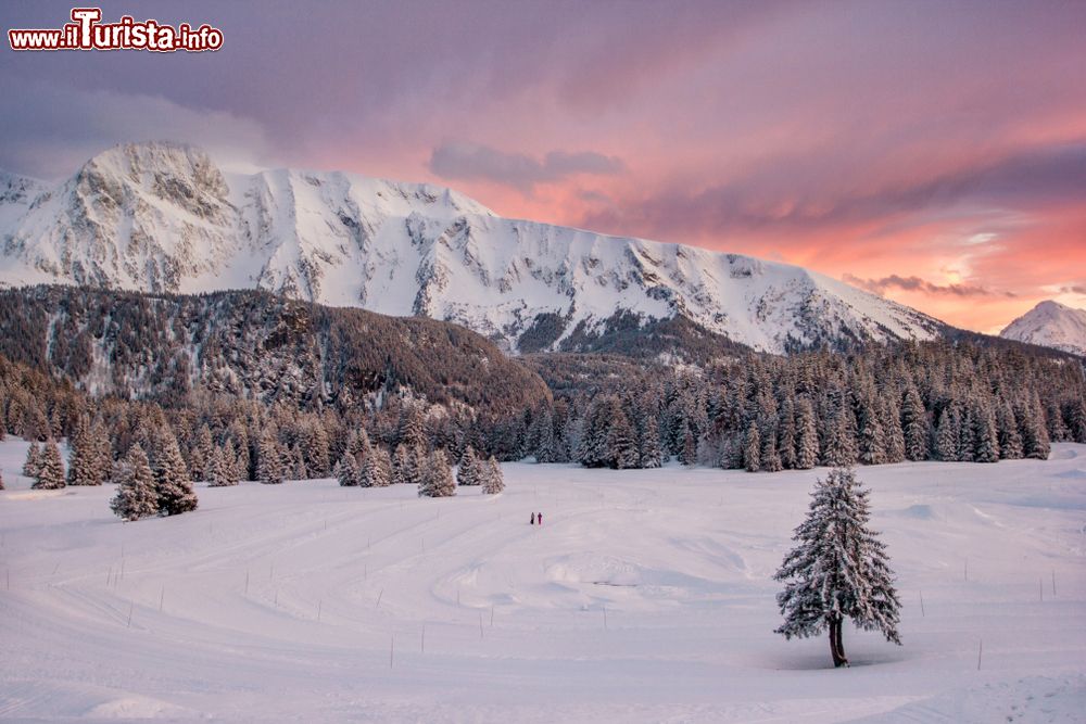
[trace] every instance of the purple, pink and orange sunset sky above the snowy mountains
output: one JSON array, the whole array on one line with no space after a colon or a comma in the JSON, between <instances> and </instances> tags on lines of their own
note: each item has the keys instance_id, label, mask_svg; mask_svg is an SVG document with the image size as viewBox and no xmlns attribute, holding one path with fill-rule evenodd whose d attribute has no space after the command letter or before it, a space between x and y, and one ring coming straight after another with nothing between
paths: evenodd
<instances>
[{"instance_id":1,"label":"purple, pink and orange sunset sky above the snowy mountains","mask_svg":"<svg viewBox=\"0 0 1086 724\"><path fill-rule=\"evenodd\" d=\"M100 4L225 46L4 39L0 167L174 139L795 263L981 331L1086 307L1086 2Z\"/></svg>"}]
</instances>

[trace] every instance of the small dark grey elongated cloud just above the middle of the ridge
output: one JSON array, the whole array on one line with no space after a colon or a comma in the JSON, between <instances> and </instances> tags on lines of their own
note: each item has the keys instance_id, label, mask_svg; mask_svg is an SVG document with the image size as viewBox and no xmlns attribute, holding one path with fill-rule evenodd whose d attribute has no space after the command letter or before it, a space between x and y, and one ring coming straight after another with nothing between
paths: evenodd
<instances>
[{"instance_id":1,"label":"small dark grey elongated cloud just above the middle of the ridge","mask_svg":"<svg viewBox=\"0 0 1086 724\"><path fill-rule=\"evenodd\" d=\"M430 155L430 170L445 179L482 179L530 193L536 183L578 174L613 176L626 169L621 158L592 151L552 151L542 160L505 153L475 143L444 143Z\"/></svg>"}]
</instances>

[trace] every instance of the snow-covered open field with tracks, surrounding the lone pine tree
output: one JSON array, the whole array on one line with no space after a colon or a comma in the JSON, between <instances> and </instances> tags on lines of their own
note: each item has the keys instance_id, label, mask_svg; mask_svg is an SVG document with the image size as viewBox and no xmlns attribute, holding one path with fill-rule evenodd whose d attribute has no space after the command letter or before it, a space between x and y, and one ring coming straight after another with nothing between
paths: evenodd
<instances>
[{"instance_id":1,"label":"snow-covered open field with tracks, surrounding the lone pine tree","mask_svg":"<svg viewBox=\"0 0 1086 724\"><path fill-rule=\"evenodd\" d=\"M847 670L772 633L824 470L200 486L194 513L123 524L110 486L30 492L25 449L0 443L0 719L1086 720L1083 445L860 469L905 646L848 627Z\"/></svg>"}]
</instances>

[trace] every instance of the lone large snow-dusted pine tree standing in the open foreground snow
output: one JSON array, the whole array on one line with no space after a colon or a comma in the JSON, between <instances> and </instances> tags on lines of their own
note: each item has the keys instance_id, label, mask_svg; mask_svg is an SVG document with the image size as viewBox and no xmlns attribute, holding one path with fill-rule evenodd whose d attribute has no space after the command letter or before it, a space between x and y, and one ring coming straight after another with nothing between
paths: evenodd
<instances>
[{"instance_id":1,"label":"lone large snow-dusted pine tree standing in the open foreground snow","mask_svg":"<svg viewBox=\"0 0 1086 724\"><path fill-rule=\"evenodd\" d=\"M773 576L785 587L776 596L785 638L830 632L835 666L848 665L842 642L845 619L864 631L880 631L901 644L900 602L894 589L886 546L868 528L868 491L850 469L830 471L815 484L807 519L795 530L799 545Z\"/></svg>"}]
</instances>

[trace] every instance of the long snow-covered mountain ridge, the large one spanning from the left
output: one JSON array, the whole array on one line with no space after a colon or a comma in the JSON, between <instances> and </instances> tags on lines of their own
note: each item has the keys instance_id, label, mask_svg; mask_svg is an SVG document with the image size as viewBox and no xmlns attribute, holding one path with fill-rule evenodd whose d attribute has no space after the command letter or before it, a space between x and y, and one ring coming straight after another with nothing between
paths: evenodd
<instances>
[{"instance_id":1,"label":"long snow-covered mountain ridge, the large one spanning from the left","mask_svg":"<svg viewBox=\"0 0 1086 724\"><path fill-rule=\"evenodd\" d=\"M506 219L455 191L338 172L224 173L117 147L55 185L0 175L0 283L263 288L459 322L518 351L677 316L757 350L930 339L944 325L786 264ZM542 344L541 344L542 341Z\"/></svg>"}]
</instances>

